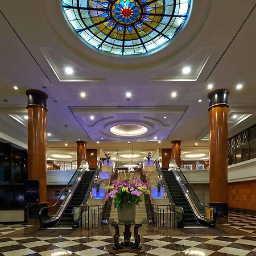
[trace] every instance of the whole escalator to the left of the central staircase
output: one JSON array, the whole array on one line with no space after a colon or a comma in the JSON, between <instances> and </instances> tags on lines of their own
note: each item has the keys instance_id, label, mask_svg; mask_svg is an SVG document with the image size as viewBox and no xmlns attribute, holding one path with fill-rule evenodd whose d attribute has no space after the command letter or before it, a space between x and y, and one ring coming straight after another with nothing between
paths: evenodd
<instances>
[{"instance_id":1,"label":"whole escalator to the left of the central staircase","mask_svg":"<svg viewBox=\"0 0 256 256\"><path fill-rule=\"evenodd\" d=\"M44 207L40 209L39 220L41 228L51 228L52 226L58 227L76 227L73 223L72 210L74 207L79 207L85 199L85 195L88 195L87 191L92 188L94 177L100 170L100 162L98 163L96 171L89 170L89 164L86 160L82 161L79 168L77 168L75 174L69 180L69 183L61 193L59 199L51 207ZM42 220L41 216L44 216L44 211L55 207L63 200L57 212L49 219Z\"/></svg>"}]
</instances>

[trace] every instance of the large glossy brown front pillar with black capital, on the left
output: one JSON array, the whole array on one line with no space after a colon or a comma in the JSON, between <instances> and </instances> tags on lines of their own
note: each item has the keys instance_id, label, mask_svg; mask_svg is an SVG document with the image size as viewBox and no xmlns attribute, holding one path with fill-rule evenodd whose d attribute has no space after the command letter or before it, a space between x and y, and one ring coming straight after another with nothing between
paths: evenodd
<instances>
[{"instance_id":1,"label":"large glossy brown front pillar with black capital, on the left","mask_svg":"<svg viewBox=\"0 0 256 256\"><path fill-rule=\"evenodd\" d=\"M28 180L39 181L39 204L46 204L46 100L40 90L27 90Z\"/></svg>"}]
</instances>

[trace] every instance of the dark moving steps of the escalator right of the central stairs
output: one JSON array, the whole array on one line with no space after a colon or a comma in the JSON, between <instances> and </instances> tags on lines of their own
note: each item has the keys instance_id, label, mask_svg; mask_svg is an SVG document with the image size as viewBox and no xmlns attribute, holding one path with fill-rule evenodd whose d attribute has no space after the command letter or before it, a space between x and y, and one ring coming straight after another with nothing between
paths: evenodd
<instances>
[{"instance_id":1,"label":"dark moving steps of the escalator right of the central stairs","mask_svg":"<svg viewBox=\"0 0 256 256\"><path fill-rule=\"evenodd\" d=\"M163 171L163 175L171 192L172 199L174 200L175 205L183 207L184 209L184 226L198 225L196 217L193 214L191 207L189 206L183 192L181 191L181 188L179 186L179 183L177 183L174 173L172 171Z\"/></svg>"}]
</instances>

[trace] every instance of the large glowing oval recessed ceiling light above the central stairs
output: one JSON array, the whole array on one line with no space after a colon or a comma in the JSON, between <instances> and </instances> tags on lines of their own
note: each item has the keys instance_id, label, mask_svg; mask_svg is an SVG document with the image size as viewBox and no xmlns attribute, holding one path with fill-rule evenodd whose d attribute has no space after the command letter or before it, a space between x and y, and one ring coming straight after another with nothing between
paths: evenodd
<instances>
[{"instance_id":1,"label":"large glowing oval recessed ceiling light above the central stairs","mask_svg":"<svg viewBox=\"0 0 256 256\"><path fill-rule=\"evenodd\" d=\"M133 125L133 124L126 124L126 125L115 125L110 128L110 133L113 133L118 136L139 136L144 133L147 133L147 128L142 125Z\"/></svg>"}]
</instances>

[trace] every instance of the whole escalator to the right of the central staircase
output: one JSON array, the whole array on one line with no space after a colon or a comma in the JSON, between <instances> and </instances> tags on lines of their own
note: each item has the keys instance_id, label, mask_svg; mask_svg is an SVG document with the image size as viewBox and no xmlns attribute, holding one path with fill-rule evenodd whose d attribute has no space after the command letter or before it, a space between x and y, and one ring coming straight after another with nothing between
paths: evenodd
<instances>
[{"instance_id":1,"label":"whole escalator to the right of the central staircase","mask_svg":"<svg viewBox=\"0 0 256 256\"><path fill-rule=\"evenodd\" d=\"M162 171L159 162L156 162L156 168L159 175L163 177L174 204L183 209L182 226L203 225L214 227L216 222L215 209L206 207L200 202L174 160L170 162L169 166L168 171ZM209 212L210 214L208 214Z\"/></svg>"}]
</instances>

